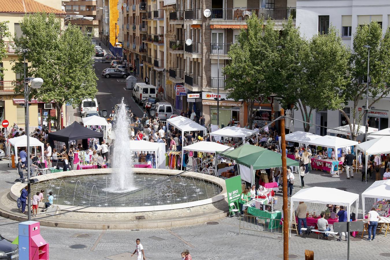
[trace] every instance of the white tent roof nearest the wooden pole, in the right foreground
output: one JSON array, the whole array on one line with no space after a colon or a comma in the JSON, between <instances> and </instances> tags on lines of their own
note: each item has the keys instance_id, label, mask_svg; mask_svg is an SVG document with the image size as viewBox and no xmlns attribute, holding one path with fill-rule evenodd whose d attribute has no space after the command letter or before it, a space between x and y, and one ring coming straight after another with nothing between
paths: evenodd
<instances>
[{"instance_id":1,"label":"white tent roof nearest the wooden pole, in the right foreground","mask_svg":"<svg viewBox=\"0 0 390 260\"><path fill-rule=\"evenodd\" d=\"M344 205L347 207L350 207L356 200L359 200L359 195L356 193L326 187L301 189L291 197L291 201Z\"/></svg>"}]
</instances>

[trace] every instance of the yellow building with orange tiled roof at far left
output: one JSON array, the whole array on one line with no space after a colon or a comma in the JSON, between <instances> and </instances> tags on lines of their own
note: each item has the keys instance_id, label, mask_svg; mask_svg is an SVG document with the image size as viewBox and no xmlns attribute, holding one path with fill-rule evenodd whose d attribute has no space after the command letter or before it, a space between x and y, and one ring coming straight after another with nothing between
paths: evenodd
<instances>
[{"instance_id":1,"label":"yellow building with orange tiled roof at far left","mask_svg":"<svg viewBox=\"0 0 390 260\"><path fill-rule=\"evenodd\" d=\"M61 1L49 0L0 0L0 21L9 21L9 32L16 37L22 35L20 21L26 13L46 12L54 13L57 17L64 19L65 12L61 10ZM12 36L13 37L13 36ZM13 60L18 60L12 38L5 39L6 58L0 60L0 66L4 67L4 77L0 77L0 121L7 119L10 124L17 123L24 128L25 107L24 96L15 95L14 84L20 84L24 75L12 71ZM28 69L28 61L26 61ZM57 116L53 103L43 103L32 97L29 106L30 131L38 125L47 126L48 115ZM61 124L66 125L66 109L63 107ZM55 128L54 124L52 127Z\"/></svg>"}]
</instances>

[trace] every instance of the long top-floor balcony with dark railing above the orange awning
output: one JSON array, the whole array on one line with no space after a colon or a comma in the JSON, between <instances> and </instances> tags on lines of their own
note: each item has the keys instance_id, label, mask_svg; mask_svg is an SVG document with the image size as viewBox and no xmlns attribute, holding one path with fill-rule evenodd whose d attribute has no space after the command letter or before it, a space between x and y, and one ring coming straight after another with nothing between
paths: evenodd
<instances>
[{"instance_id":1,"label":"long top-floor balcony with dark railing above the orange awning","mask_svg":"<svg viewBox=\"0 0 390 260\"><path fill-rule=\"evenodd\" d=\"M296 9L276 8L276 9L212 9L211 20L245 21L255 13L264 20L286 20L290 15L295 19Z\"/></svg>"}]
</instances>

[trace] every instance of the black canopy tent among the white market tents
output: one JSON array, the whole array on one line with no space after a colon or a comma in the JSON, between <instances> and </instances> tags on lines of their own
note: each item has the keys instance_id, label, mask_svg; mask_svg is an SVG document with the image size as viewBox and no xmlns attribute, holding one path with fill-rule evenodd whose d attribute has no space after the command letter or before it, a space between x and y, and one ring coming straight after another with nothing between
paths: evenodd
<instances>
[{"instance_id":1,"label":"black canopy tent among the white market tents","mask_svg":"<svg viewBox=\"0 0 390 260\"><path fill-rule=\"evenodd\" d=\"M88 138L99 138L99 143L103 141L103 133L90 130L83 127L78 122L74 121L70 126L65 127L59 131L49 133L49 143L51 147L54 147L54 141L64 142L66 149L69 150L69 140L82 139L82 145L84 149L88 148Z\"/></svg>"}]
</instances>

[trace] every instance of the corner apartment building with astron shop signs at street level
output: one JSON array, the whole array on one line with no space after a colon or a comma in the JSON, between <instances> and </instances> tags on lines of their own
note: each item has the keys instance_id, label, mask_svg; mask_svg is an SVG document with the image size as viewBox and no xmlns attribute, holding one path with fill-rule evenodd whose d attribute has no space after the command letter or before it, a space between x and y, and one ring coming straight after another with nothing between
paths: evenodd
<instances>
[{"instance_id":1,"label":"corner apartment building with astron shop signs at street level","mask_svg":"<svg viewBox=\"0 0 390 260\"><path fill-rule=\"evenodd\" d=\"M234 120L245 125L248 106L243 101L227 98L223 67L229 62L227 53L231 44L237 42L245 19L254 12L257 16L275 21L275 30L293 15L295 0L205 0L167 3L167 29L165 45L168 49L165 68L167 99L176 109L193 109L205 115L206 124L217 121L217 88L219 87L220 124ZM209 17L204 11L210 11ZM266 21L265 21L266 22ZM189 44L191 43L191 44ZM218 67L219 60L219 67ZM219 74L218 74L219 73ZM170 84L168 84L170 83ZM183 88L184 87L184 88ZM184 89L184 91L183 91ZM178 91L179 90L179 91ZM278 102L269 97L259 97L258 123L265 125L278 115Z\"/></svg>"}]
</instances>

